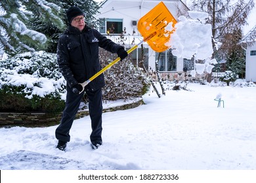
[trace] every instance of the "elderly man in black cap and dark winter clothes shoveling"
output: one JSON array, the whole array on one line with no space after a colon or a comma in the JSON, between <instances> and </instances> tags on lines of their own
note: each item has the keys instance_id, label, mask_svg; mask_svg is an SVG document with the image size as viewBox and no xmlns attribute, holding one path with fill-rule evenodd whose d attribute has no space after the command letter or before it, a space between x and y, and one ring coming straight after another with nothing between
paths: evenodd
<instances>
[{"instance_id":1,"label":"elderly man in black cap and dark winter clothes shoveling","mask_svg":"<svg viewBox=\"0 0 256 183\"><path fill-rule=\"evenodd\" d=\"M80 8L70 7L66 16L68 29L58 41L57 60L60 71L66 79L67 95L60 125L56 128L55 135L58 139L56 148L65 150L70 141L70 129L79 104L86 93L89 99L89 113L92 132L90 135L91 146L96 149L102 145L102 87L105 85L103 74L95 78L83 90L79 83L85 82L100 71L98 48L117 53L124 59L127 52L115 42L101 35L96 29L85 24L85 14ZM80 93L81 92L81 93Z\"/></svg>"}]
</instances>

